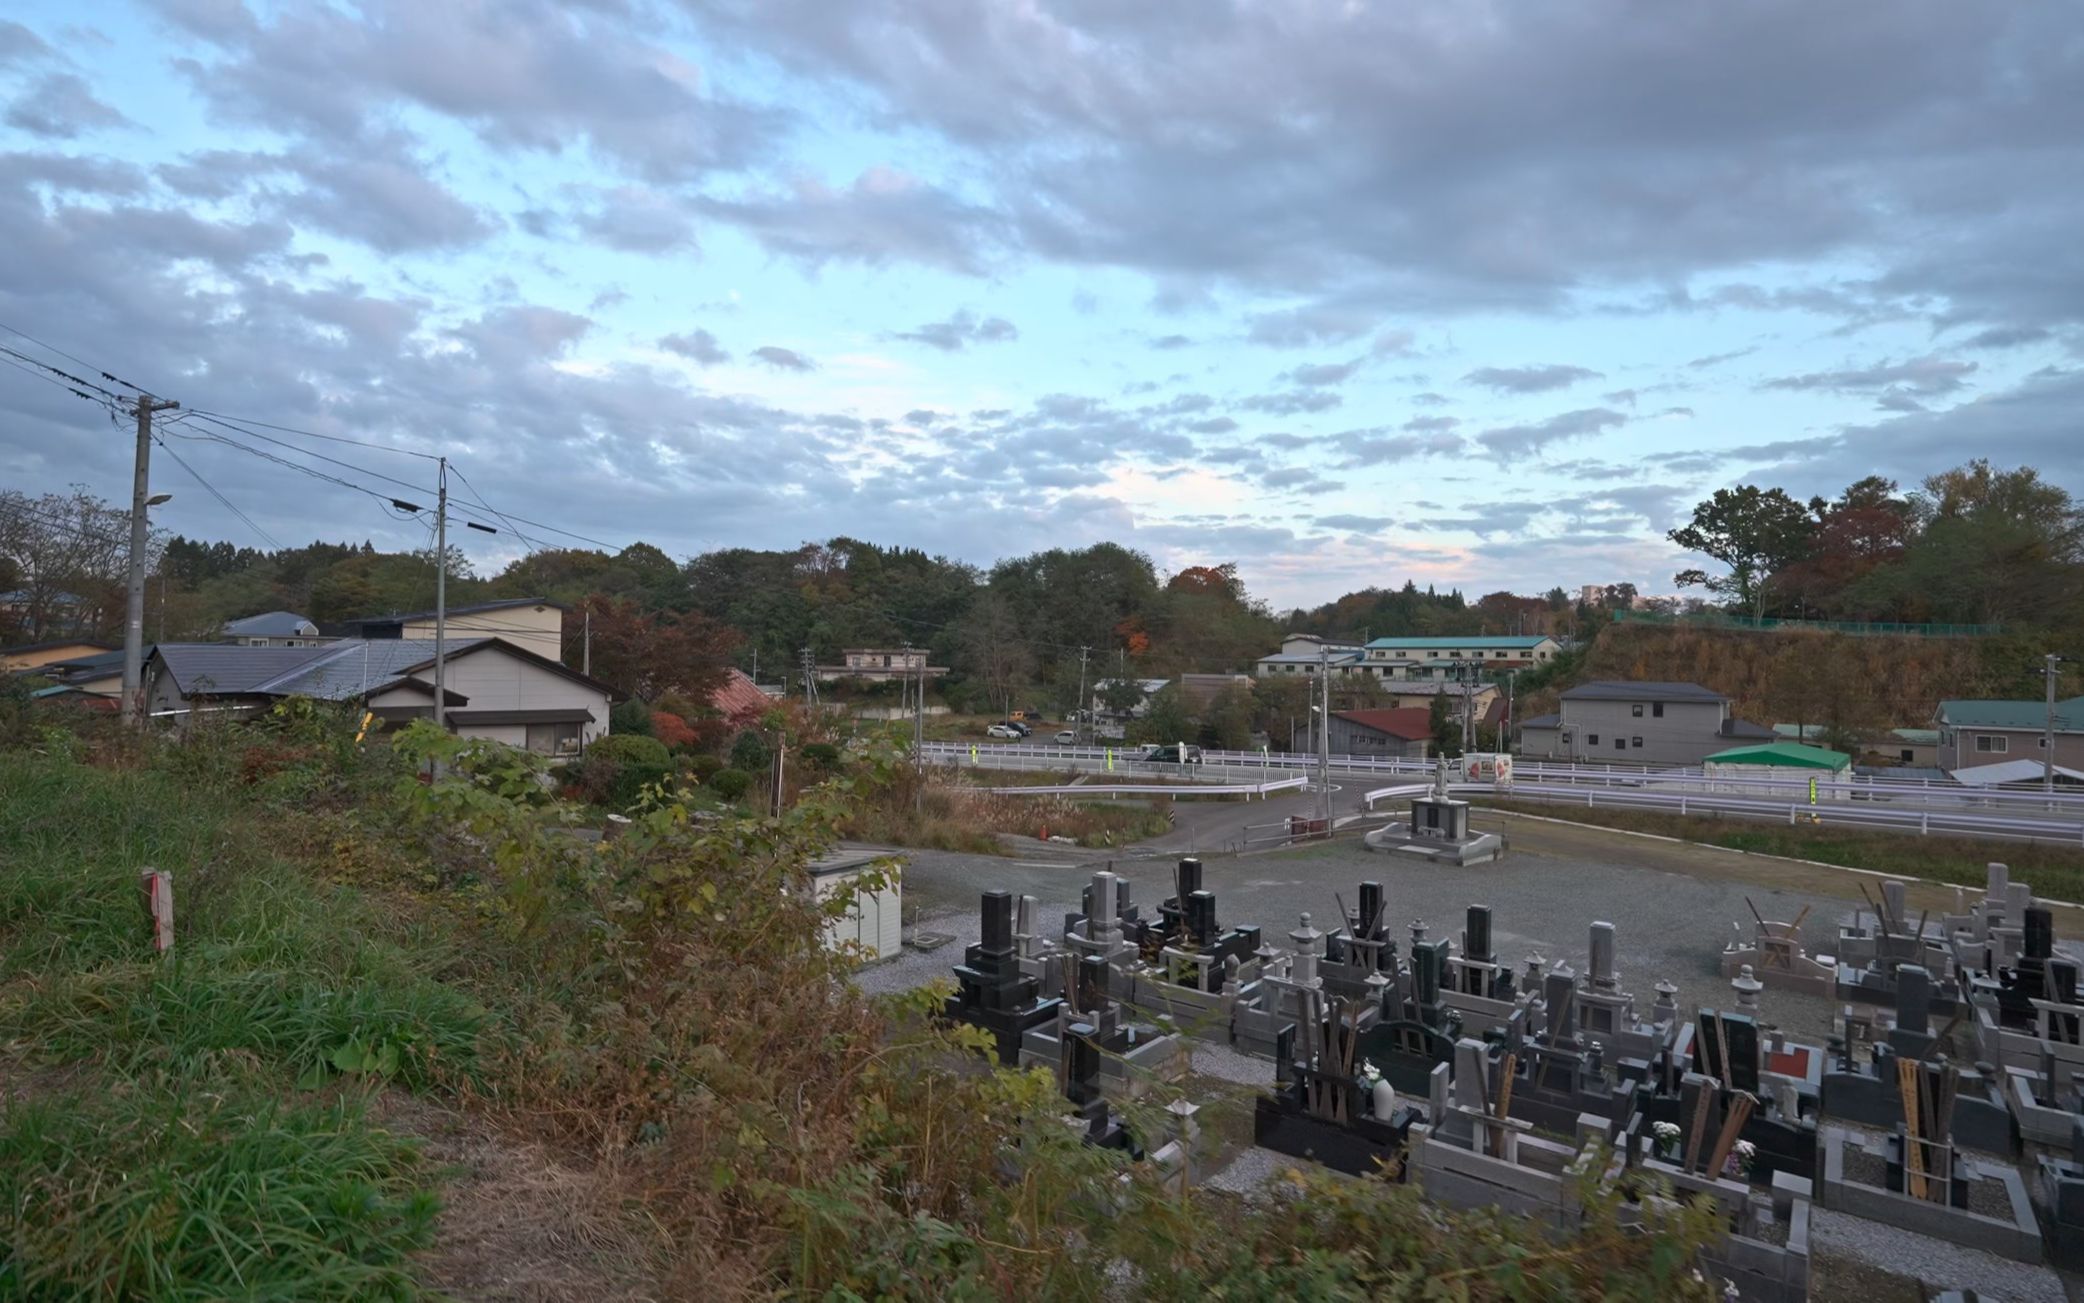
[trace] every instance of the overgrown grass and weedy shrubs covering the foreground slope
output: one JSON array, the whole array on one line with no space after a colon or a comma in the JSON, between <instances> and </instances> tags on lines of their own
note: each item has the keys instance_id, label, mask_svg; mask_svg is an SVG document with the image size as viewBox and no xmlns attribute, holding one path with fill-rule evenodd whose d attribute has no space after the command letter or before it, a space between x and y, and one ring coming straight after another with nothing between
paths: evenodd
<instances>
[{"instance_id":1,"label":"overgrown grass and weedy shrubs covering the foreground slope","mask_svg":"<svg viewBox=\"0 0 2084 1303\"><path fill-rule=\"evenodd\" d=\"M1713 1297L1692 1211L1594 1199L1550 1243L1380 1182L1171 1197L1077 1145L1046 1074L821 944L844 903L800 865L871 778L779 819L659 788L592 842L523 755L348 728L0 751L0 1295L425 1293L454 1174L381 1122L419 1097L588 1163L663 1297ZM165 959L140 865L175 874Z\"/></svg>"}]
</instances>

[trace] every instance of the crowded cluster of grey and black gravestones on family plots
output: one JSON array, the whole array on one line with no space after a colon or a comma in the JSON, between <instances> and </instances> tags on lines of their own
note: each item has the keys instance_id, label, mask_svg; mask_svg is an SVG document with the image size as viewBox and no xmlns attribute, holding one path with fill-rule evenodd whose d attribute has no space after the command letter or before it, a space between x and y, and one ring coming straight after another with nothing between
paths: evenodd
<instances>
[{"instance_id":1,"label":"crowded cluster of grey and black gravestones on family plots","mask_svg":"<svg viewBox=\"0 0 2084 1303\"><path fill-rule=\"evenodd\" d=\"M1171 1182L1219 1165L1188 1097L1194 1047L1221 1047L1265 1065L1259 1149L1557 1232L1588 1188L1711 1201L1711 1261L1746 1299L1809 1295L1813 1209L2078 1270L2084 1001L2051 909L2003 865L1940 917L1913 917L1903 882L1861 890L1832 955L1805 949L1807 907L1780 921L1744 899L1748 926L1705 955L1728 986L1682 1005L1636 974L1638 1007L1613 921L1582 955L1515 963L1490 905L1434 936L1392 921L1394 880L1365 880L1328 892L1330 930L1300 913L1282 932L1219 921L1182 857L1152 917L1107 869L1050 936L1032 896L984 892L946 1015L1052 1072L1090 1142L1150 1151ZM1828 1001L1830 1032L1778 1026L1771 990ZM1165 1109L1155 1134L1111 1111L1127 1101Z\"/></svg>"}]
</instances>

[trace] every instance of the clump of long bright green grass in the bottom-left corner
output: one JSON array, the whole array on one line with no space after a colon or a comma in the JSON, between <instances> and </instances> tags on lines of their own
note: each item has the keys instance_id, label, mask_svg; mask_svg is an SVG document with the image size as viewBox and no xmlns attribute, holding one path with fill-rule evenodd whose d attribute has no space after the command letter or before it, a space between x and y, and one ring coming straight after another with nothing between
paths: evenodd
<instances>
[{"instance_id":1,"label":"clump of long bright green grass in the bottom-left corner","mask_svg":"<svg viewBox=\"0 0 2084 1303\"><path fill-rule=\"evenodd\" d=\"M0 1297L408 1299L433 1234L417 1149L358 1101L210 1080L0 1113Z\"/></svg>"}]
</instances>

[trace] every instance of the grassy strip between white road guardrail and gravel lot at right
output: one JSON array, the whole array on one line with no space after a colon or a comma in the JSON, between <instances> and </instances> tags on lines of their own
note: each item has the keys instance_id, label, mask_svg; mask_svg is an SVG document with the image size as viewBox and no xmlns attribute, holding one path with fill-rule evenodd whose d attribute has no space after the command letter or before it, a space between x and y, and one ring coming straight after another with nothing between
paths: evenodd
<instances>
[{"instance_id":1,"label":"grassy strip between white road guardrail and gravel lot at right","mask_svg":"<svg viewBox=\"0 0 2084 1303\"><path fill-rule=\"evenodd\" d=\"M1482 805L1525 815L1569 819L1573 823L1653 832L1707 846L1786 855L1788 859L1815 859L1849 869L1903 874L1907 878L1957 882L1961 886L1982 886L1986 865L2003 861L2011 867L2011 880L2030 882L2036 894L2084 903L2084 849L2076 846L1909 836L1861 828L1790 828L1757 819L1665 815L1609 807L1586 809L1582 805L1544 805L1536 801L1484 801Z\"/></svg>"}]
</instances>

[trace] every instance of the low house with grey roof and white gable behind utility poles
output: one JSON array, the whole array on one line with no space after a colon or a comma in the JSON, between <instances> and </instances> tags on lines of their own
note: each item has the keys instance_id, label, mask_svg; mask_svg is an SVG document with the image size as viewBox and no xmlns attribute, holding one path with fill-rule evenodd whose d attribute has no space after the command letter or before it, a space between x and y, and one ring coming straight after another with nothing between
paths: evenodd
<instances>
[{"instance_id":1,"label":"low house with grey roof and white gable behind utility poles","mask_svg":"<svg viewBox=\"0 0 2084 1303\"><path fill-rule=\"evenodd\" d=\"M552 757L579 755L606 736L619 694L504 638L461 638L444 648L444 719ZM252 715L290 696L354 700L388 726L433 715L433 642L350 638L319 646L163 642L146 663L146 703L175 723L198 713Z\"/></svg>"}]
</instances>

